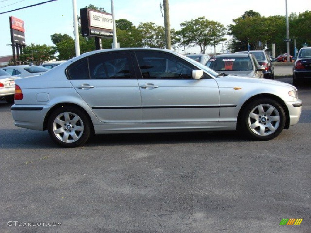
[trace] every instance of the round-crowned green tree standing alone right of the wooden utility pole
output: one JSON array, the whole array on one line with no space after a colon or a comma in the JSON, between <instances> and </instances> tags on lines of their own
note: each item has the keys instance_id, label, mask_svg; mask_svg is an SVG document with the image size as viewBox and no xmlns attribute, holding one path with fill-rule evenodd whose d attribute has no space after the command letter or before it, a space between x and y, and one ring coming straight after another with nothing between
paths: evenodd
<instances>
[{"instance_id":1,"label":"round-crowned green tree standing alone right of the wooden utility pole","mask_svg":"<svg viewBox=\"0 0 311 233\"><path fill-rule=\"evenodd\" d=\"M225 41L225 27L219 22L209 21L204 16L180 24L181 30L177 31L181 45L200 46L201 53L205 53L208 46L216 46Z\"/></svg>"}]
</instances>

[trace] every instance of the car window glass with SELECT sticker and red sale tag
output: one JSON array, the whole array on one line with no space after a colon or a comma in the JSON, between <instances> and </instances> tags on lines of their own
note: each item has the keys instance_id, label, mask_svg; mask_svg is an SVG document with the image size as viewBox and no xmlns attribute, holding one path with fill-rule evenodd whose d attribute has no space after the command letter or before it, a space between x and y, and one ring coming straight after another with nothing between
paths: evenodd
<instances>
[{"instance_id":1,"label":"car window glass with SELECT sticker and red sale tag","mask_svg":"<svg viewBox=\"0 0 311 233\"><path fill-rule=\"evenodd\" d=\"M207 62L206 66L214 71L253 70L249 57L213 57Z\"/></svg>"}]
</instances>

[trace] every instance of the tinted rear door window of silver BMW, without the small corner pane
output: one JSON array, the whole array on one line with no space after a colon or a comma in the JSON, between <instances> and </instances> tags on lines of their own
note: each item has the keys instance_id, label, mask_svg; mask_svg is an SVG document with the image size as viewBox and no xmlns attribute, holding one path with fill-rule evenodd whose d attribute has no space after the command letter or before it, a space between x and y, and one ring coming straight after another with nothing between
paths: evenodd
<instances>
[{"instance_id":1,"label":"tinted rear door window of silver BMW, without the small corner pane","mask_svg":"<svg viewBox=\"0 0 311 233\"><path fill-rule=\"evenodd\" d=\"M89 57L91 79L130 79L128 53L103 53Z\"/></svg>"}]
</instances>

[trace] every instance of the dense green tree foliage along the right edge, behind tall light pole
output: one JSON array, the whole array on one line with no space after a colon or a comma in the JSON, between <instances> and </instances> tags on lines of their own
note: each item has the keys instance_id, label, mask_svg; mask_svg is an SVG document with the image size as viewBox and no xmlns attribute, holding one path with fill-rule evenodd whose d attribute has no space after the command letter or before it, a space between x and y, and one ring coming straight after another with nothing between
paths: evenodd
<instances>
[{"instance_id":1,"label":"dense green tree foliage along the right edge, behind tall light pole","mask_svg":"<svg viewBox=\"0 0 311 233\"><path fill-rule=\"evenodd\" d=\"M243 16L234 19L234 24L229 25L228 29L232 39L229 49L232 52L247 50L248 43L251 50L264 49L272 50L272 43L276 45L276 54L286 53L286 18L285 16L263 17L252 10L245 11ZM299 49L304 43L311 43L311 11L290 14L289 33L290 50L293 53L294 39Z\"/></svg>"}]
</instances>

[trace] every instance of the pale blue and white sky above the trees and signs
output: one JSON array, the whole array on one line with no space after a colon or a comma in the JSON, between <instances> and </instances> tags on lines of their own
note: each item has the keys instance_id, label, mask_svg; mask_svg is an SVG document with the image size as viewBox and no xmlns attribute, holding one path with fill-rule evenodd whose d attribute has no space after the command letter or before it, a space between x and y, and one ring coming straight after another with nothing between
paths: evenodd
<instances>
[{"instance_id":1,"label":"pale blue and white sky above the trees and signs","mask_svg":"<svg viewBox=\"0 0 311 233\"><path fill-rule=\"evenodd\" d=\"M72 0L56 0L35 7L29 7L17 11L21 7L34 5L48 0L0 0L0 57L12 55L9 16L21 19L25 23L26 45L46 44L54 46L51 35L55 33L73 34L73 8ZM171 28L180 29L180 23L205 16L206 19L220 22L225 27L233 24L245 11L253 10L261 16L286 15L286 0L271 0L260 2L258 0L168 0ZM113 0L115 19L127 19L138 26L139 23L153 22L164 26L164 18L160 11L160 2L163 0ZM111 0L76 0L77 15L80 8L89 4L102 7L111 13ZM307 0L297 4L294 0L287 1L288 15L299 14L311 10L311 1ZM118 38L117 38L118 40ZM209 53L210 48L206 53ZM222 50L222 44L216 47L216 52ZM213 50L214 51L214 50ZM179 51L181 52L181 51ZM200 53L199 47L188 48L188 53Z\"/></svg>"}]
</instances>

